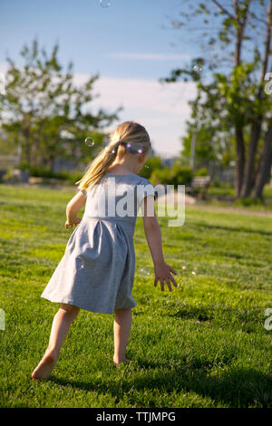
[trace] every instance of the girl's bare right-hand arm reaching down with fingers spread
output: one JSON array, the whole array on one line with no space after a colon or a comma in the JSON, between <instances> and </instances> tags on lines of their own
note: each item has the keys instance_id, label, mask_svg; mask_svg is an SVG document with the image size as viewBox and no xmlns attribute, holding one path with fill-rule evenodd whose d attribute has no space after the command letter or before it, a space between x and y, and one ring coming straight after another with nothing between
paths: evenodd
<instances>
[{"instance_id":1,"label":"girl's bare right-hand arm reaching down with fingers spread","mask_svg":"<svg viewBox=\"0 0 272 426\"><path fill-rule=\"evenodd\" d=\"M151 250L151 257L154 264L154 272L155 272L154 286L157 286L158 281L160 281L160 288L162 291L164 291L164 281L166 281L169 287L169 290L172 291L170 281L173 283L175 287L177 287L178 285L174 277L171 276L170 273L172 272L173 274L177 275L177 272L170 265L166 264L164 261L162 244L161 244L160 226L156 217L155 208L153 210L153 216L147 215L148 203L152 203L153 201L154 201L154 197L152 195L143 198L142 218L143 218L143 228L144 228L145 236Z\"/></svg>"}]
</instances>

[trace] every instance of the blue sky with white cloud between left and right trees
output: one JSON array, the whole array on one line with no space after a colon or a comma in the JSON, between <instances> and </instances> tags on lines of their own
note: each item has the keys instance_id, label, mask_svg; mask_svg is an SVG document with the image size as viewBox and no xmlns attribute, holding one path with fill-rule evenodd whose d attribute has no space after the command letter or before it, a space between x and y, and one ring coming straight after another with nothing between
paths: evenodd
<instances>
[{"instance_id":1,"label":"blue sky with white cloud between left and right trees","mask_svg":"<svg viewBox=\"0 0 272 426\"><path fill-rule=\"evenodd\" d=\"M158 153L175 155L195 85L162 86L158 80L198 54L189 32L170 27L167 15L177 18L181 4L112 0L102 7L100 0L0 0L0 69L5 69L6 54L20 64L23 44L34 37L47 51L58 43L60 62L73 62L75 82L100 74L94 86L100 97L92 103L93 111L123 106L120 121L141 122Z\"/></svg>"}]
</instances>

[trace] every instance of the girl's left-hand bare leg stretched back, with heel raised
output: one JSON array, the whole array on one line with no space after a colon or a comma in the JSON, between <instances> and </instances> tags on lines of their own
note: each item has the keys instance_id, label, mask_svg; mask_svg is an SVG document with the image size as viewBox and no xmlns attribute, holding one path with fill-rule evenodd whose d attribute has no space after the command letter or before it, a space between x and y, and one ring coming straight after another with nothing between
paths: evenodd
<instances>
[{"instance_id":1,"label":"girl's left-hand bare leg stretched back, with heel raised","mask_svg":"<svg viewBox=\"0 0 272 426\"><path fill-rule=\"evenodd\" d=\"M33 379L46 379L50 376L53 366L58 360L63 340L79 311L78 306L61 304L59 311L53 318L49 344L44 357L32 373Z\"/></svg>"}]
</instances>

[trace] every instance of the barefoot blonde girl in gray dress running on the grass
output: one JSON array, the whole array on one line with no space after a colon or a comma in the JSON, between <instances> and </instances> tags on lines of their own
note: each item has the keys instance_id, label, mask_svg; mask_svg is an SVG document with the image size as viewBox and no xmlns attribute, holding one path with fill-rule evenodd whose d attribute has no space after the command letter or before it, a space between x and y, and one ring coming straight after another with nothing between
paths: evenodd
<instances>
[{"instance_id":1,"label":"barefoot blonde girl in gray dress running on the grass","mask_svg":"<svg viewBox=\"0 0 272 426\"><path fill-rule=\"evenodd\" d=\"M151 141L144 127L135 121L124 121L112 133L109 145L92 160L83 178L76 182L80 184L80 190L67 205L65 223L66 229L73 228L73 225L76 228L42 294L42 297L61 305L53 318L44 357L32 373L34 380L45 379L52 373L63 340L80 308L114 314L113 364L117 366L129 361L125 352L131 332L131 308L136 306L131 295L135 271L133 233L140 206L154 263L154 286L160 281L162 291L164 282L170 291L171 282L177 287L170 274L177 273L164 261L154 204L149 204L150 200L154 203L154 188L148 179L138 176L150 152ZM108 190L112 179L115 191ZM139 195L136 189L141 185L145 185L145 192L141 191ZM107 204L105 194L108 203L112 200L117 203L120 201L119 189L132 189L137 211L134 209L131 216L112 216L107 214L108 207L106 214L101 213L100 210ZM77 214L85 203L83 218L78 218ZM95 204L98 210L94 208Z\"/></svg>"}]
</instances>

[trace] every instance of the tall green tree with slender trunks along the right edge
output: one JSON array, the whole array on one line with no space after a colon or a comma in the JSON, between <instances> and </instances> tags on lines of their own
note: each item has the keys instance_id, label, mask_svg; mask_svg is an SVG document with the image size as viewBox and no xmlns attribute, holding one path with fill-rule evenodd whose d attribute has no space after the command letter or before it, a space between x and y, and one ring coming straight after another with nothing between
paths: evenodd
<instances>
[{"instance_id":1,"label":"tall green tree with slender trunks along the right edge","mask_svg":"<svg viewBox=\"0 0 272 426\"><path fill-rule=\"evenodd\" d=\"M248 197L253 191L254 197L261 198L272 165L272 99L264 90L265 77L272 72L272 0L198 1L189 5L189 13L180 15L187 24L203 16L206 53L161 81L185 76L198 83L198 108L209 111L210 128L215 131L220 126L235 142L236 196ZM218 24L216 30L212 20ZM181 28L185 23L174 24ZM203 70L207 66L211 82L203 82L198 66Z\"/></svg>"}]
</instances>

